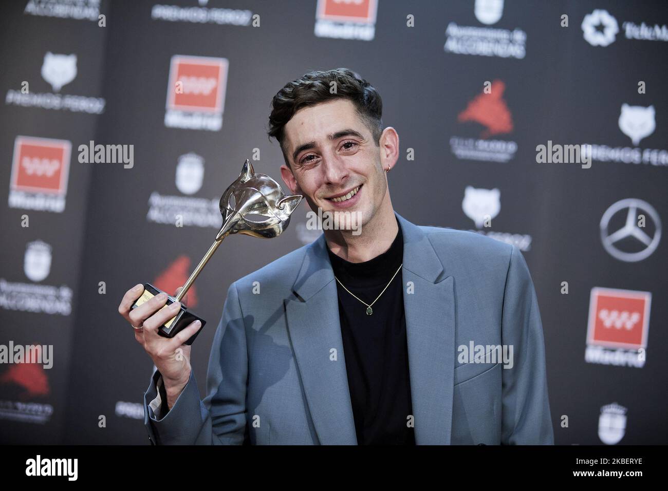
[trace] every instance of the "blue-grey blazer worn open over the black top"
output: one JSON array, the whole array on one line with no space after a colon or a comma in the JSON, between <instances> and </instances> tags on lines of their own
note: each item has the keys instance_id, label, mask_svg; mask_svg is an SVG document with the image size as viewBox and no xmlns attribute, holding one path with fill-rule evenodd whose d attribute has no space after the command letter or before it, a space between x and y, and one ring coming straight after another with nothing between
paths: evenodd
<instances>
[{"instance_id":1,"label":"blue-grey blazer worn open over the black top","mask_svg":"<svg viewBox=\"0 0 668 491\"><path fill-rule=\"evenodd\" d=\"M553 444L540 313L520 251L396 216L415 442ZM472 345L512 346L512 367L477 363L461 348ZM162 417L161 383L155 371L144 394L152 444L357 444L325 236L230 285L204 400L192 373Z\"/></svg>"}]
</instances>

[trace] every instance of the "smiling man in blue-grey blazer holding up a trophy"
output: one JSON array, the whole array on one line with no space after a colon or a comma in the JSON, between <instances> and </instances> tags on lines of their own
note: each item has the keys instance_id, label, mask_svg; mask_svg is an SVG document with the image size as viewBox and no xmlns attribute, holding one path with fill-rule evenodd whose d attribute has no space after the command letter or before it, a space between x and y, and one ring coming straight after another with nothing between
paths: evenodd
<instances>
[{"instance_id":1,"label":"smiling man in blue-grey blazer holding up a trophy","mask_svg":"<svg viewBox=\"0 0 668 491\"><path fill-rule=\"evenodd\" d=\"M144 395L152 443L553 443L522 255L395 213L399 137L381 114L376 90L347 69L307 73L274 97L285 184L313 212L355 214L357 228L324 230L230 285L203 401L182 345L199 326L160 337L178 306L159 310L155 297L130 311L142 287L126 293L119 311L157 367Z\"/></svg>"}]
</instances>

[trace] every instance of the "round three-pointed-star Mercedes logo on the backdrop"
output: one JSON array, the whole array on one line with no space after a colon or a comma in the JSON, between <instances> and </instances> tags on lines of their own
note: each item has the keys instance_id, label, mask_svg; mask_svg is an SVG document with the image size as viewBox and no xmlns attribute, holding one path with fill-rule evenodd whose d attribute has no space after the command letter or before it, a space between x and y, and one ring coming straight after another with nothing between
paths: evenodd
<instances>
[{"instance_id":1,"label":"round three-pointed-star Mercedes logo on the backdrop","mask_svg":"<svg viewBox=\"0 0 668 491\"><path fill-rule=\"evenodd\" d=\"M610 230L610 221L613 220L615 215L623 210L627 210L624 225L617 230ZM650 236L645 232L645 227L641 228L641 226L639 226L639 210L644 212L645 224L648 222L651 224L651 222L653 222L653 236ZM625 238L635 239L635 242L639 242L642 249L635 252L621 250L618 246L618 242ZM651 204L643 200L627 198L618 201L605 210L603 217L601 217L601 241L603 242L603 247L612 257L619 259L619 261L625 261L627 263L642 261L657 249L659 240L661 240L661 219L659 218L657 210L655 210ZM637 247L635 249L637 249Z\"/></svg>"}]
</instances>

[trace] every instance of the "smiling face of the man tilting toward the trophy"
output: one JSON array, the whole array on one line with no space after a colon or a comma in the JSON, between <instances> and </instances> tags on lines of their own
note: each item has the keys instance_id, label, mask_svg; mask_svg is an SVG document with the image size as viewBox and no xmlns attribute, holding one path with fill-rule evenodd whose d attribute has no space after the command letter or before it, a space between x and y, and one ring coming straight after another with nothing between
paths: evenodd
<instances>
[{"instance_id":1,"label":"smiling face of the man tilting toward the trophy","mask_svg":"<svg viewBox=\"0 0 668 491\"><path fill-rule=\"evenodd\" d=\"M281 175L294 194L305 196L314 212L318 208L323 213L359 212L358 223L364 225L387 193L381 149L354 104L337 98L297 111L285 125L292 172L284 165ZM354 194L345 199L349 192Z\"/></svg>"}]
</instances>

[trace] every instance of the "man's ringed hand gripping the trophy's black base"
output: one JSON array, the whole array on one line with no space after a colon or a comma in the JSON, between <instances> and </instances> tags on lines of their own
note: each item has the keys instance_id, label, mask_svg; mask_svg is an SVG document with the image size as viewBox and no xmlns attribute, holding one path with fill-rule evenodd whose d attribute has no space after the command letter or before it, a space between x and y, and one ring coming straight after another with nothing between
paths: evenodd
<instances>
[{"instance_id":1,"label":"man's ringed hand gripping the trophy's black base","mask_svg":"<svg viewBox=\"0 0 668 491\"><path fill-rule=\"evenodd\" d=\"M176 293L178 291L180 288ZM180 303L174 302L162 308L167 303L167 295L160 293L136 309L131 309L142 293L142 284L128 290L118 306L118 313L134 327L134 339L144 347L162 374L167 405L171 408L190 379L190 346L184 343L200 329L201 323L190 323L172 338L160 336L158 328L178 313Z\"/></svg>"}]
</instances>

